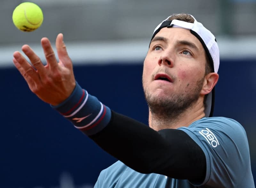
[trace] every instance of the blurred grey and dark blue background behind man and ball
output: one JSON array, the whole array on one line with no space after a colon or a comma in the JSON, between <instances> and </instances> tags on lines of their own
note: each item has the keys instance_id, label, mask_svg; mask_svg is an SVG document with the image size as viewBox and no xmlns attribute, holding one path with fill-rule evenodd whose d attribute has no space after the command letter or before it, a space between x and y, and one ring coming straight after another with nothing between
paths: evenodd
<instances>
[{"instance_id":1,"label":"blurred grey and dark blue background behind man and ball","mask_svg":"<svg viewBox=\"0 0 256 188\"><path fill-rule=\"evenodd\" d=\"M63 33L78 83L116 112L147 124L141 76L149 40L162 20L181 12L216 36L214 116L245 128L255 180L256 0L35 0L30 2L42 8L44 22L31 33L12 23L22 2L1 0L0 6L0 187L91 188L116 161L29 90L12 64L14 51L29 44L44 61L41 38L54 46Z\"/></svg>"}]
</instances>

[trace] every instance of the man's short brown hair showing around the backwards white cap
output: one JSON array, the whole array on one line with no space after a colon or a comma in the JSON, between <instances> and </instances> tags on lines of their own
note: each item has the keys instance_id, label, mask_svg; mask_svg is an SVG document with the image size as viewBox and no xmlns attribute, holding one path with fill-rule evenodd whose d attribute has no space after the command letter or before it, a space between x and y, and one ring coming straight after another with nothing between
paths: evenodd
<instances>
[{"instance_id":1,"label":"man's short brown hair showing around the backwards white cap","mask_svg":"<svg viewBox=\"0 0 256 188\"><path fill-rule=\"evenodd\" d=\"M172 14L168 18L168 20L174 20L174 19L184 21L184 22L188 22L188 23L194 23L195 22L195 19L191 15L186 14L186 13ZM211 65L211 61L210 61L208 55L206 54L206 52L205 52L205 57L206 57L206 62L205 62L204 76L208 75L211 72L214 72L214 70L212 68L212 65ZM204 96L204 107L205 107L206 97L207 97L207 95Z\"/></svg>"}]
</instances>

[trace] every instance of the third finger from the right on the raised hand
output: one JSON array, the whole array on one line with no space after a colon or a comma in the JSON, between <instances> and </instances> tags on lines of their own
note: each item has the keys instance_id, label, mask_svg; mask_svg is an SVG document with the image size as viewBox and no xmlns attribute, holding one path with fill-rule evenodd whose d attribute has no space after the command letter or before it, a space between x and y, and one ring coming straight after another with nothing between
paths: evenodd
<instances>
[{"instance_id":1,"label":"third finger from the right on the raised hand","mask_svg":"<svg viewBox=\"0 0 256 188\"><path fill-rule=\"evenodd\" d=\"M35 54L35 52L28 45L22 46L21 49L28 56L31 64L36 68L39 76L41 78L44 78L46 75L46 69L41 59Z\"/></svg>"}]
</instances>

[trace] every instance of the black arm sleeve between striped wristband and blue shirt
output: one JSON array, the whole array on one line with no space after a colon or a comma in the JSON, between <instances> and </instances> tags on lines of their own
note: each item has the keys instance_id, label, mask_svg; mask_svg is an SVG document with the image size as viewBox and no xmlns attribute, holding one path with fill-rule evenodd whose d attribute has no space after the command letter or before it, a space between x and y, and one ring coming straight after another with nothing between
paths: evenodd
<instances>
[{"instance_id":1,"label":"black arm sleeve between striped wristband and blue shirt","mask_svg":"<svg viewBox=\"0 0 256 188\"><path fill-rule=\"evenodd\" d=\"M108 126L90 138L110 155L140 173L204 180L204 152L181 130L163 129L157 132L112 111Z\"/></svg>"}]
</instances>

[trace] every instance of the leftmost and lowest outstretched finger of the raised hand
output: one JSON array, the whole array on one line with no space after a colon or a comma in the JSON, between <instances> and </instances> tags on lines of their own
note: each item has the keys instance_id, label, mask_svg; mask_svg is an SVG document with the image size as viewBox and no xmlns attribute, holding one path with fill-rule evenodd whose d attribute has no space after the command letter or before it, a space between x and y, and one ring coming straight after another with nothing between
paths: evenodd
<instances>
[{"instance_id":1,"label":"leftmost and lowest outstretched finger of the raised hand","mask_svg":"<svg viewBox=\"0 0 256 188\"><path fill-rule=\"evenodd\" d=\"M25 80L30 77L34 80L34 82L40 82L40 78L36 70L32 67L32 65L28 63L28 61L23 57L23 55L20 54L20 52L14 52L13 57L15 59L15 61L13 61L15 67L20 71Z\"/></svg>"}]
</instances>

